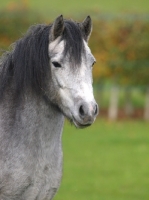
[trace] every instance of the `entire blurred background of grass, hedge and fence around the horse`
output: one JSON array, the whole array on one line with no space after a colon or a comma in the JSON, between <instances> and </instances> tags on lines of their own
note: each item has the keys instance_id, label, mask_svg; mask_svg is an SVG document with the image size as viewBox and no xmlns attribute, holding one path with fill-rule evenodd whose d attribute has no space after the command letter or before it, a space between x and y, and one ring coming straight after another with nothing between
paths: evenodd
<instances>
[{"instance_id":1,"label":"entire blurred background of grass, hedge and fence around the horse","mask_svg":"<svg viewBox=\"0 0 149 200\"><path fill-rule=\"evenodd\" d=\"M0 55L30 25L90 15L97 60L95 124L66 122L64 175L55 200L149 199L149 1L1 0Z\"/></svg>"}]
</instances>

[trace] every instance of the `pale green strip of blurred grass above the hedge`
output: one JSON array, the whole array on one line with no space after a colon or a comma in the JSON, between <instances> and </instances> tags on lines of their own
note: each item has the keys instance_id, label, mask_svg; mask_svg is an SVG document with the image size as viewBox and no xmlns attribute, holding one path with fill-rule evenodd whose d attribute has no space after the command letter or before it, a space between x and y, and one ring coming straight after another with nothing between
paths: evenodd
<instances>
[{"instance_id":1,"label":"pale green strip of blurred grass above the hedge","mask_svg":"<svg viewBox=\"0 0 149 200\"><path fill-rule=\"evenodd\" d=\"M83 13L92 14L92 12L149 12L148 0L1 0L0 8L6 8L13 6L13 2L20 5L21 2L26 2L29 8L41 13L46 17L55 17L60 14L65 16L80 16Z\"/></svg>"}]
</instances>

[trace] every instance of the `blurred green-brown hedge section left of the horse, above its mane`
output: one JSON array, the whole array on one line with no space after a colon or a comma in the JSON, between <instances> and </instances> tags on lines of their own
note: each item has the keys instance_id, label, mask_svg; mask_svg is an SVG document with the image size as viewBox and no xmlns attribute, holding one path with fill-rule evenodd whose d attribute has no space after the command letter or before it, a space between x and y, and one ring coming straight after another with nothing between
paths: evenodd
<instances>
[{"instance_id":1,"label":"blurred green-brown hedge section left of the horse, above its mane","mask_svg":"<svg viewBox=\"0 0 149 200\"><path fill-rule=\"evenodd\" d=\"M31 13L24 8L0 10L0 50L6 50L31 25L41 22L41 19L37 13Z\"/></svg>"}]
</instances>

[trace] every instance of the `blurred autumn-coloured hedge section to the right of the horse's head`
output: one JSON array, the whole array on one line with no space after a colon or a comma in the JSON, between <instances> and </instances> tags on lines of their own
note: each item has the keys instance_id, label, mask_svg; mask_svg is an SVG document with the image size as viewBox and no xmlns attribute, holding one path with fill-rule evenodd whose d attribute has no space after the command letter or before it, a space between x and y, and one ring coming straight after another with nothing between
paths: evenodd
<instances>
[{"instance_id":1,"label":"blurred autumn-coloured hedge section to the right of the horse's head","mask_svg":"<svg viewBox=\"0 0 149 200\"><path fill-rule=\"evenodd\" d=\"M148 16L106 15L94 20L90 46L98 60L96 81L149 85L148 38Z\"/></svg>"}]
</instances>

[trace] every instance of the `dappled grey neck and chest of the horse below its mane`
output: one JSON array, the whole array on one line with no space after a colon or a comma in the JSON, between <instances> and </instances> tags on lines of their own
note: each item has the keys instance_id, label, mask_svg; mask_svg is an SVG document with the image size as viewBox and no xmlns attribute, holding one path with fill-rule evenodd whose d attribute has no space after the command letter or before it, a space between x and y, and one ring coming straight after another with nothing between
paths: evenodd
<instances>
[{"instance_id":1,"label":"dappled grey neck and chest of the horse below its mane","mask_svg":"<svg viewBox=\"0 0 149 200\"><path fill-rule=\"evenodd\" d=\"M47 199L49 194L52 199L62 172L64 117L44 98L29 95L19 104L12 104L10 98L0 103L0 168L8 188L6 198Z\"/></svg>"}]
</instances>

